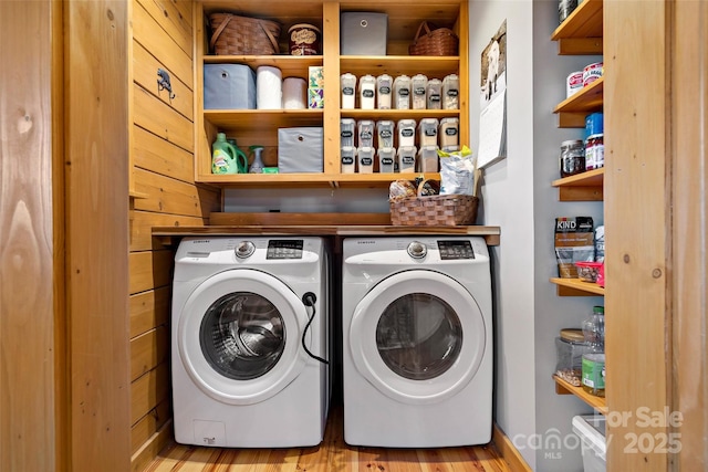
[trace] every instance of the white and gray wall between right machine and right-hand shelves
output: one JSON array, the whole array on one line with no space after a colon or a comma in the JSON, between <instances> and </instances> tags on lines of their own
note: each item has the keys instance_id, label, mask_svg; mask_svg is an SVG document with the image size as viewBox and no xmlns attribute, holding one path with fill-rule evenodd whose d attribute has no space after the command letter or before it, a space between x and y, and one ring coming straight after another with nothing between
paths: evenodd
<instances>
[{"instance_id":1,"label":"white and gray wall between right machine and right-hand shelves","mask_svg":"<svg viewBox=\"0 0 708 472\"><path fill-rule=\"evenodd\" d=\"M553 223L560 216L591 216L602 222L601 203L558 201L550 182L559 177L560 143L582 129L560 129L552 111L565 96L565 77L595 62L559 56L550 40L558 27L555 1L471 1L470 84L480 76L481 51L507 20L507 158L486 169L485 224L501 227L494 258L494 419L535 471L582 470L571 434L573 415L591 409L558 396L554 338L580 326L601 297L558 297L548 282L556 275ZM479 143L479 101L470 97L472 149ZM555 448L559 438L571 445ZM568 439L566 439L568 438Z\"/></svg>"}]
</instances>

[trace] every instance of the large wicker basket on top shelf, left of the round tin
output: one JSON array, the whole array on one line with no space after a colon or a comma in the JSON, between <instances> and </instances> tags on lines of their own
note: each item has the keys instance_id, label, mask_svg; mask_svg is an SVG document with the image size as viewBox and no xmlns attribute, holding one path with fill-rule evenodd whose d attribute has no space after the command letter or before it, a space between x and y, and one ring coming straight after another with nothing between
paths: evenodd
<instances>
[{"instance_id":1,"label":"large wicker basket on top shelf, left of the round tin","mask_svg":"<svg viewBox=\"0 0 708 472\"><path fill-rule=\"evenodd\" d=\"M278 54L280 24L259 18L238 17L232 13L211 13L209 46L218 55Z\"/></svg>"}]
</instances>

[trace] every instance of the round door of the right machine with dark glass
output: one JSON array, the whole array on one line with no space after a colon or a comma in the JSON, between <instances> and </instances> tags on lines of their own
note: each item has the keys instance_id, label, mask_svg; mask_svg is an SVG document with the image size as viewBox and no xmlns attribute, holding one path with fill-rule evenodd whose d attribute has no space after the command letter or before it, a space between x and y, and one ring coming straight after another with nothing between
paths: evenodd
<instances>
[{"instance_id":1,"label":"round door of the right machine with dark glass","mask_svg":"<svg viewBox=\"0 0 708 472\"><path fill-rule=\"evenodd\" d=\"M412 405L450 398L475 377L486 344L475 298L433 271L400 272L374 286L350 326L358 371L381 392Z\"/></svg>"}]
</instances>

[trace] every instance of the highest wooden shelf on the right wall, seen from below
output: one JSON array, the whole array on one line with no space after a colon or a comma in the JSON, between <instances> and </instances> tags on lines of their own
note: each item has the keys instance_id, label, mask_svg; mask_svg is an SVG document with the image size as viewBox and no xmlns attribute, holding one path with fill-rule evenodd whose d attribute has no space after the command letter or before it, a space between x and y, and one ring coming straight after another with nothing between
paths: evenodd
<instances>
[{"instance_id":1,"label":"highest wooden shelf on the right wall, seen from below","mask_svg":"<svg viewBox=\"0 0 708 472\"><path fill-rule=\"evenodd\" d=\"M602 0L583 0L553 34L559 54L602 54Z\"/></svg>"}]
</instances>

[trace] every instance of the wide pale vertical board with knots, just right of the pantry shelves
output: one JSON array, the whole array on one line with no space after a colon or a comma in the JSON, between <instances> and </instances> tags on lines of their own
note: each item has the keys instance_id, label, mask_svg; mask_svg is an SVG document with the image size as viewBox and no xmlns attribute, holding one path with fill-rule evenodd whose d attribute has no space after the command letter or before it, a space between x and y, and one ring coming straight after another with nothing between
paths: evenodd
<instances>
[{"instance_id":1,"label":"wide pale vertical board with knots, just right of the pantry shelves","mask_svg":"<svg viewBox=\"0 0 708 472\"><path fill-rule=\"evenodd\" d=\"M637 418L638 408L662 412L669 406L667 8L666 2L604 2L604 117L611 130L605 139L606 395L611 413L629 415L607 424L613 438L607 463L615 471L659 472L669 462L666 450L632 442L668 438L665 426Z\"/></svg>"}]
</instances>

